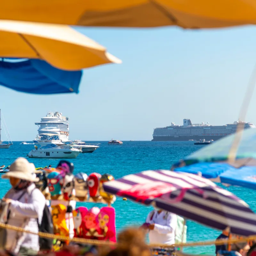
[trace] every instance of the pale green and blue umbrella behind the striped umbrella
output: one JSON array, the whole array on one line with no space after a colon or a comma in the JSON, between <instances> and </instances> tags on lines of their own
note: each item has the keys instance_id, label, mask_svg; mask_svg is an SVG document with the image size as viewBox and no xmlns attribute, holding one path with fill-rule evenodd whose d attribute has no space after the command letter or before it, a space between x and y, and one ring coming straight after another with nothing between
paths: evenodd
<instances>
[{"instance_id":1,"label":"pale green and blue umbrella behind the striped umbrella","mask_svg":"<svg viewBox=\"0 0 256 256\"><path fill-rule=\"evenodd\" d=\"M234 161L228 154L234 137L225 137L205 146L172 165L176 172L199 174L223 184L256 189L256 129L243 131Z\"/></svg>"}]
</instances>

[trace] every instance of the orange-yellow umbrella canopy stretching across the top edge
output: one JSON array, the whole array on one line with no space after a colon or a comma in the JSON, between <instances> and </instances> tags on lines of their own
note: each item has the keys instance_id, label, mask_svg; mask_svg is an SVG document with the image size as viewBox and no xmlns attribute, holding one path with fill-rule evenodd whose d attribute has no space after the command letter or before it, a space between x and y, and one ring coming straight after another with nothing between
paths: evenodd
<instances>
[{"instance_id":1,"label":"orange-yellow umbrella canopy stretching across the top edge","mask_svg":"<svg viewBox=\"0 0 256 256\"><path fill-rule=\"evenodd\" d=\"M0 19L82 26L219 28L256 23L255 0L1 0Z\"/></svg>"}]
</instances>

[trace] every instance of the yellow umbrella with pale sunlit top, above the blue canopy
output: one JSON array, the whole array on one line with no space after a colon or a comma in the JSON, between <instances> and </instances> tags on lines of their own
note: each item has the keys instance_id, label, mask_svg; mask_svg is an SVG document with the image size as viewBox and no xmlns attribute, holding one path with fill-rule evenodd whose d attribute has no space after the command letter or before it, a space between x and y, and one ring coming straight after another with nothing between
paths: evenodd
<instances>
[{"instance_id":1,"label":"yellow umbrella with pale sunlit top, above the blue canopy","mask_svg":"<svg viewBox=\"0 0 256 256\"><path fill-rule=\"evenodd\" d=\"M67 25L0 20L0 57L45 60L63 70L121 63L102 45Z\"/></svg>"}]
</instances>

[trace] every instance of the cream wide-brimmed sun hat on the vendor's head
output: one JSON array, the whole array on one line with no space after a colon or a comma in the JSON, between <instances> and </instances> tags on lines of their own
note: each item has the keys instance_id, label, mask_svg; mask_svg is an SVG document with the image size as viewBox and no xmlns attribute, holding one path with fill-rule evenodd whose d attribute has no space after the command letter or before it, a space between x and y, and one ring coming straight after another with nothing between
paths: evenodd
<instances>
[{"instance_id":1,"label":"cream wide-brimmed sun hat on the vendor's head","mask_svg":"<svg viewBox=\"0 0 256 256\"><path fill-rule=\"evenodd\" d=\"M9 171L2 175L1 178L9 179L10 177L13 177L36 182L39 178L34 176L35 171L36 168L34 164L29 163L26 158L19 157L12 163Z\"/></svg>"}]
</instances>

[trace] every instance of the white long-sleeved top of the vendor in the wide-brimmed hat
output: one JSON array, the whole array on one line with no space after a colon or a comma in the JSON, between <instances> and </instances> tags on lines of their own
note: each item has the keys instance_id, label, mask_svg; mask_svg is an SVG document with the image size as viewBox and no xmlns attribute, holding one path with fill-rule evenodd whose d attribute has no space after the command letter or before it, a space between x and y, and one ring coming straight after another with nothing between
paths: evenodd
<instances>
[{"instance_id":1,"label":"white long-sleeved top of the vendor in the wide-brimmed hat","mask_svg":"<svg viewBox=\"0 0 256 256\"><path fill-rule=\"evenodd\" d=\"M45 197L35 184L31 184L26 193L23 190L15 191L11 188L5 198L12 199L10 204L10 216L8 224L22 227L32 232L38 233L38 222L41 223L45 206ZM17 201L17 199L23 196ZM7 241L5 248L18 253L20 247L30 248L39 251L39 238L37 235L20 233L15 230L7 229Z\"/></svg>"}]
</instances>

